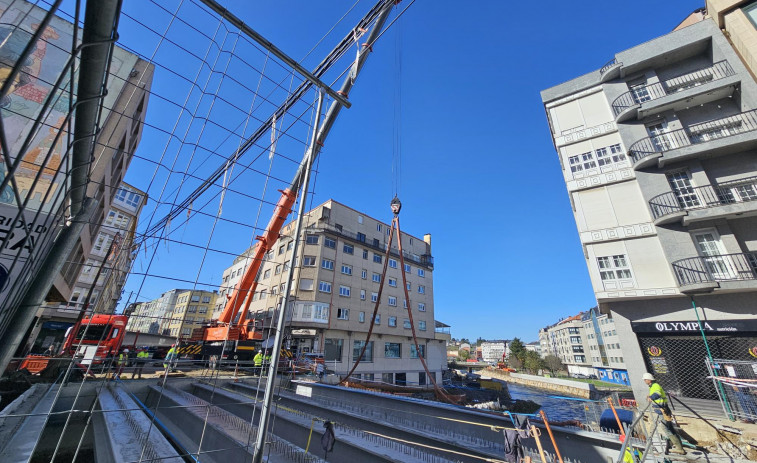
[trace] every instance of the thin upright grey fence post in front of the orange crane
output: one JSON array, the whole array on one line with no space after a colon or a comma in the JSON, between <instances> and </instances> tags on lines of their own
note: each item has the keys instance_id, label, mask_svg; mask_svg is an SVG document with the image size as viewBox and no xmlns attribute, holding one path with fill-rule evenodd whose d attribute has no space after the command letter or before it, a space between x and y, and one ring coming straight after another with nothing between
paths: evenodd
<instances>
[{"instance_id":1,"label":"thin upright grey fence post in front of the orange crane","mask_svg":"<svg viewBox=\"0 0 757 463\"><path fill-rule=\"evenodd\" d=\"M318 106L316 107L315 123L313 124L313 138L310 140L308 155L305 158L305 177L302 180L302 191L300 193L300 207L297 211L297 225L294 229L294 246L292 247L292 263L287 273L286 286L284 286L284 299L279 308L279 316L276 321L276 337L273 342L271 355L271 364L268 365L268 382L265 386L265 395L263 396L263 409L260 414L258 423L258 436L255 441L255 453L252 457L252 463L261 463L263 461L263 452L265 450L265 435L268 432L268 421L271 415L271 402L273 401L273 387L276 383L276 370L279 366L279 355L281 352L282 334L284 332L284 315L289 305L289 292L292 287L294 278L294 256L297 255L297 245L300 242L300 231L302 230L302 218L305 216L305 204L307 203L308 182L310 181L310 171L315 159L315 147L318 144L318 129L321 122L321 108L323 107L323 93L318 92Z\"/></svg>"}]
</instances>

